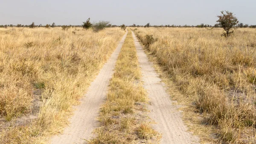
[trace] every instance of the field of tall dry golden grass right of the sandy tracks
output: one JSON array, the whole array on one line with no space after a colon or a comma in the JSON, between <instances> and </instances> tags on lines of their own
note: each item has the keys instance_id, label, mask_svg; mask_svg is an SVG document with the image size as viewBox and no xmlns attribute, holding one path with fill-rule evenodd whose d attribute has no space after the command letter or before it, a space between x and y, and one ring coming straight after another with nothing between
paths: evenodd
<instances>
[{"instance_id":1,"label":"field of tall dry golden grass right of the sandy tracks","mask_svg":"<svg viewBox=\"0 0 256 144\"><path fill-rule=\"evenodd\" d=\"M255 29L238 28L228 39L221 28L135 32L182 93L174 98L196 110L202 125L213 126L213 141L256 143Z\"/></svg>"}]
</instances>

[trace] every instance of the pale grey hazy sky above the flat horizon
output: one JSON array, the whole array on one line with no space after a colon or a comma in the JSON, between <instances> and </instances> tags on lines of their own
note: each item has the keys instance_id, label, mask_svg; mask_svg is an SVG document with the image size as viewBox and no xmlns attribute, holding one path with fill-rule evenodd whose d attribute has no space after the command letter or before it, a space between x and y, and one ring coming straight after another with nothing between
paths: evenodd
<instances>
[{"instance_id":1,"label":"pale grey hazy sky above the flat horizon","mask_svg":"<svg viewBox=\"0 0 256 144\"><path fill-rule=\"evenodd\" d=\"M0 25L81 25L88 17L115 25L214 25L222 10L256 25L256 0L0 0Z\"/></svg>"}]
</instances>

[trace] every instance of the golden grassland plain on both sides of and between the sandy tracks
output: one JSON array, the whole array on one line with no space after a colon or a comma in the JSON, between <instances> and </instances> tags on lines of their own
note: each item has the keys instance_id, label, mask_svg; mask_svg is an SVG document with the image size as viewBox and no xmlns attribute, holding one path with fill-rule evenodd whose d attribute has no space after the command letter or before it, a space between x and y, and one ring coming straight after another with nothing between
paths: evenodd
<instances>
[{"instance_id":1,"label":"golden grassland plain on both sides of and between the sandy tracks","mask_svg":"<svg viewBox=\"0 0 256 144\"><path fill-rule=\"evenodd\" d=\"M256 143L255 28L235 28L228 38L221 37L221 28L125 31L128 36L99 113L98 136L89 143L111 144L119 135L124 135L115 139L120 143L161 137L144 121L147 94L131 31L170 99L182 105L189 132L201 143ZM0 28L0 143L48 143L50 136L62 133L72 106L79 104L125 31ZM112 121L117 115L122 117Z\"/></svg>"}]
</instances>

